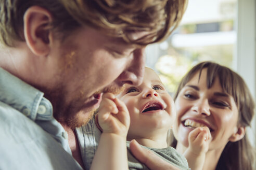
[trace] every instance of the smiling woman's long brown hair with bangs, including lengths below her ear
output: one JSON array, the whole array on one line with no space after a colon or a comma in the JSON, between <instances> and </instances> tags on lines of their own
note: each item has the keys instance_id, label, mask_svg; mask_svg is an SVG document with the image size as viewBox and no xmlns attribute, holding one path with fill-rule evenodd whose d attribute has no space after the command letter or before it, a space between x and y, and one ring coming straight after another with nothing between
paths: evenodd
<instances>
[{"instance_id":1,"label":"smiling woman's long brown hair with bangs, including lengths below her ear","mask_svg":"<svg viewBox=\"0 0 256 170\"><path fill-rule=\"evenodd\" d=\"M181 80L177 92L174 96L176 100L179 92L185 84L199 72L199 79L203 68L207 68L207 87L211 88L215 78L220 79L220 84L224 92L232 95L238 108L238 125L251 126L251 120L254 115L254 101L245 81L231 69L213 63L202 62L194 66ZM176 140L172 146L176 146ZM226 144L216 169L245 169L252 170L255 161L255 149L251 146L247 134L236 142L228 141Z\"/></svg>"}]
</instances>

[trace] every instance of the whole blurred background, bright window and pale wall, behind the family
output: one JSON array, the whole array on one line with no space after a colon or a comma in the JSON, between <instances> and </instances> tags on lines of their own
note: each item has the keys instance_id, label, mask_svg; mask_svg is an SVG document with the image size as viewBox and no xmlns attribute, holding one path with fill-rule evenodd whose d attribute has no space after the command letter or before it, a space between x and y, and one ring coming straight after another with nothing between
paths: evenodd
<instances>
[{"instance_id":1,"label":"whole blurred background, bright window and pale wall, behind the family","mask_svg":"<svg viewBox=\"0 0 256 170\"><path fill-rule=\"evenodd\" d=\"M256 99L255 0L189 0L180 26L146 48L146 65L173 96L188 70L202 61L225 65L246 81ZM247 130L256 146L256 117Z\"/></svg>"}]
</instances>

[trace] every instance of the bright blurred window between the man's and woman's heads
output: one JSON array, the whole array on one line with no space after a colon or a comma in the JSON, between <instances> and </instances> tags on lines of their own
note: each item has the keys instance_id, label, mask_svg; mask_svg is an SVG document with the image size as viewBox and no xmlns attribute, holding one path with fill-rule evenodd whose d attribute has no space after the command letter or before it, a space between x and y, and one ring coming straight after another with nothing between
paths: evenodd
<instances>
[{"instance_id":1,"label":"bright blurred window between the man's and woman's heads","mask_svg":"<svg viewBox=\"0 0 256 170\"><path fill-rule=\"evenodd\" d=\"M187 71L202 61L233 67L236 0L193 0L180 26L164 42L146 50L147 66L157 70L173 94Z\"/></svg>"}]
</instances>

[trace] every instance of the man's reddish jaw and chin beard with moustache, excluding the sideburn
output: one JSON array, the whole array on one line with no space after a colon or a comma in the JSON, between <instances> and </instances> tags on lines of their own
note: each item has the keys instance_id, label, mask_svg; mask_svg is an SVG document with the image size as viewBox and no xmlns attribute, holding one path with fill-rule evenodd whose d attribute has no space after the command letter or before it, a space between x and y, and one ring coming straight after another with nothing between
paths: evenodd
<instances>
[{"instance_id":1,"label":"man's reddish jaw and chin beard with moustache, excluding the sideburn","mask_svg":"<svg viewBox=\"0 0 256 170\"><path fill-rule=\"evenodd\" d=\"M66 103L65 98L68 97L65 94L64 87L55 88L54 90L47 91L44 89L45 97L53 105L54 118L62 125L67 125L71 129L85 125L92 119L97 108L86 110L84 103L86 98L82 95L76 96L71 103ZM118 94L123 90L123 87L107 87L94 93L94 95L100 93L110 92ZM82 92L80 92L82 93Z\"/></svg>"}]
</instances>

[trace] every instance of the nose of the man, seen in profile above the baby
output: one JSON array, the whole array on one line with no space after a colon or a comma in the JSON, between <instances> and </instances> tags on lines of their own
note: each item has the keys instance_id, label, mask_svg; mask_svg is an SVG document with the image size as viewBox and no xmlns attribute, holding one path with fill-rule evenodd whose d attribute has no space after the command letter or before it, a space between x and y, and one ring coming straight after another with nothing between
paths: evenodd
<instances>
[{"instance_id":1,"label":"nose of the man, seen in profile above the baby","mask_svg":"<svg viewBox=\"0 0 256 170\"><path fill-rule=\"evenodd\" d=\"M130 66L119 76L123 84L128 83L139 86L143 81L145 70L145 47L135 49Z\"/></svg>"}]
</instances>

